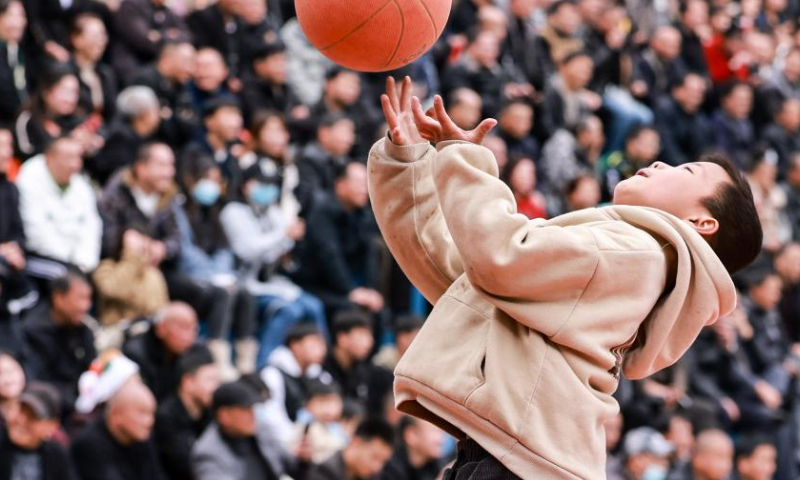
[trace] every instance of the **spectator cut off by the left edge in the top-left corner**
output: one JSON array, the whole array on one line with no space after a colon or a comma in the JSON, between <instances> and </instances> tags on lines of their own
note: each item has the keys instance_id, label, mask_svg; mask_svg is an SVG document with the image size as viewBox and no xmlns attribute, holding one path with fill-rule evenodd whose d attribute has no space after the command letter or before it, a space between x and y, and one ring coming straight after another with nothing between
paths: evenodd
<instances>
[{"instance_id":1,"label":"spectator cut off by the left edge in the top-left corner","mask_svg":"<svg viewBox=\"0 0 800 480\"><path fill-rule=\"evenodd\" d=\"M0 2L0 121L13 122L28 99L28 74L20 43L28 18L19 0Z\"/></svg>"}]
</instances>

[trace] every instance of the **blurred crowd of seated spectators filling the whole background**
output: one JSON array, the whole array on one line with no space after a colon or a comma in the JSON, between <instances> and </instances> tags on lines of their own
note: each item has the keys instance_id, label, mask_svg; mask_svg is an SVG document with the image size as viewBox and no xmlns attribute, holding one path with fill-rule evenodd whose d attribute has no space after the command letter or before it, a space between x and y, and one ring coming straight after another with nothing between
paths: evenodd
<instances>
[{"instance_id":1,"label":"blurred crowd of seated spectators filling the whole background","mask_svg":"<svg viewBox=\"0 0 800 480\"><path fill-rule=\"evenodd\" d=\"M746 172L763 255L684 359L621 380L610 480L800 478L799 18L456 0L389 73L498 119L530 218L655 161ZM292 0L0 0L0 480L440 475L454 439L391 395L430 306L368 205L385 75L328 61Z\"/></svg>"}]
</instances>

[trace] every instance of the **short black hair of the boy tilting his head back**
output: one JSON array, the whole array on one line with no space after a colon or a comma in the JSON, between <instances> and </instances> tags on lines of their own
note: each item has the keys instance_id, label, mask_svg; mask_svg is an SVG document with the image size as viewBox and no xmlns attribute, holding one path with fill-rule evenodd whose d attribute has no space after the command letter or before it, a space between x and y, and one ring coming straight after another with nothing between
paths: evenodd
<instances>
[{"instance_id":1,"label":"short black hair of the boy tilting his head back","mask_svg":"<svg viewBox=\"0 0 800 480\"><path fill-rule=\"evenodd\" d=\"M717 187L714 195L700 202L719 222L719 230L707 239L708 243L728 273L733 274L752 263L763 244L764 233L753 202L753 192L747 179L727 156L706 154L698 161L719 165L730 179L730 182Z\"/></svg>"}]
</instances>

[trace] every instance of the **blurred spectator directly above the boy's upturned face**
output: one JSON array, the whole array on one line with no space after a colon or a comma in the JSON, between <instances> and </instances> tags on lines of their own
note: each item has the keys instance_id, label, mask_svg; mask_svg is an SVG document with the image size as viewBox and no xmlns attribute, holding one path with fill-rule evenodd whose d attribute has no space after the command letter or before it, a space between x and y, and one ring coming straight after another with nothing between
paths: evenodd
<instances>
[{"instance_id":1,"label":"blurred spectator directly above the boy's upturned face","mask_svg":"<svg viewBox=\"0 0 800 480\"><path fill-rule=\"evenodd\" d=\"M642 168L650 166L661 152L661 137L653 127L636 126L625 137L625 149L611 152L600 159L603 200L611 201L617 184Z\"/></svg>"}]
</instances>

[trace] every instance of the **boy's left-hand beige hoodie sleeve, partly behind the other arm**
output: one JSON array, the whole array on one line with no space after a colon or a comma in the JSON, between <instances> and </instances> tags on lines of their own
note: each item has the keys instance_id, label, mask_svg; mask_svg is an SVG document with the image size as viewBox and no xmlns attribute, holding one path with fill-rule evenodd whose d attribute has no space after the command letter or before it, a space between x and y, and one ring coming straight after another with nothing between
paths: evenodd
<instances>
[{"instance_id":1,"label":"boy's left-hand beige hoodie sleeve, partly behind the other arm","mask_svg":"<svg viewBox=\"0 0 800 480\"><path fill-rule=\"evenodd\" d=\"M369 196L395 259L425 298L436 303L463 269L433 183L436 150L379 140L369 155Z\"/></svg>"}]
</instances>

